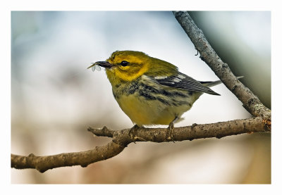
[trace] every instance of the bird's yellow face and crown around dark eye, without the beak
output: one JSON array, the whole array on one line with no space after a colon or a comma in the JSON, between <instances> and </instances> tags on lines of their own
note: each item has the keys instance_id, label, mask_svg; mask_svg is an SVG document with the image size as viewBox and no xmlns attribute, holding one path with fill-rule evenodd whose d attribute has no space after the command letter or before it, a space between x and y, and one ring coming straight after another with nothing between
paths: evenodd
<instances>
[{"instance_id":1,"label":"bird's yellow face and crown around dark eye, without the beak","mask_svg":"<svg viewBox=\"0 0 282 195\"><path fill-rule=\"evenodd\" d=\"M111 68L106 68L106 75L110 82L130 82L147 72L149 59L149 56L140 51L115 51L106 60L112 65Z\"/></svg>"}]
</instances>

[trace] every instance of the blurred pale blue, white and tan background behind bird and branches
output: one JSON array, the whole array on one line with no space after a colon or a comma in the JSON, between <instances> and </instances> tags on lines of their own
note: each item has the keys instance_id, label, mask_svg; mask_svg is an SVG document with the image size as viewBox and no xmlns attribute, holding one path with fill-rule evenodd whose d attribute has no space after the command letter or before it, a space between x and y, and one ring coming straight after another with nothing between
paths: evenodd
<instances>
[{"instance_id":1,"label":"blurred pale blue, white and tan background behind bird and branches","mask_svg":"<svg viewBox=\"0 0 282 195\"><path fill-rule=\"evenodd\" d=\"M235 75L271 108L271 13L197 11L190 15ZM133 126L104 70L86 70L116 50L143 51L196 80L218 80L195 56L171 11L12 11L11 153L39 156L85 151L111 139L87 127ZM223 84L204 94L176 127L250 118ZM11 169L13 184L269 184L270 134L130 144L88 165Z\"/></svg>"}]
</instances>

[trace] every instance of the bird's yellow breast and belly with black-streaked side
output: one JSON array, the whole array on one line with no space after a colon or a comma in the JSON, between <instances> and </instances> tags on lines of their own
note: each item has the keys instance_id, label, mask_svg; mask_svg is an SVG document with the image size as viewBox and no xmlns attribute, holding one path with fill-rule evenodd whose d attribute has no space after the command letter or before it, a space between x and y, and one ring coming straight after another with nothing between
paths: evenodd
<instances>
[{"instance_id":1,"label":"bird's yellow breast and belly with black-streaked side","mask_svg":"<svg viewBox=\"0 0 282 195\"><path fill-rule=\"evenodd\" d=\"M137 125L168 125L193 103L185 90L140 81L113 86L113 94L123 112Z\"/></svg>"}]
</instances>

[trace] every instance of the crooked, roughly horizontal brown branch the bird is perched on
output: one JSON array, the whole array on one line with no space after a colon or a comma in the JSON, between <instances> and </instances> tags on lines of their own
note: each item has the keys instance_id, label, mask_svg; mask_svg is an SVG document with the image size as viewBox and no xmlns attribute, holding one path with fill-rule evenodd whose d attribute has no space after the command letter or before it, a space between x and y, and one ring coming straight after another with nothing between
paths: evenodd
<instances>
[{"instance_id":1,"label":"crooked, roughly horizontal brown branch the bird is perched on","mask_svg":"<svg viewBox=\"0 0 282 195\"><path fill-rule=\"evenodd\" d=\"M52 168L80 165L86 167L91 163L103 161L121 153L131 142L135 141L166 141L166 128L140 128L136 132L137 139L131 139L129 130L109 130L88 128L88 131L97 136L113 137L113 140L105 146L97 146L89 151L74 153L60 153L54 156L18 156L11 154L11 167L16 169L34 168L39 172L45 172ZM227 122L216 122L212 124L197 125L188 127L176 127L174 141L201 139L209 137L226 137L233 134L252 132L270 132L271 124L262 118L250 118L243 120L231 120ZM109 133L111 132L111 133Z\"/></svg>"}]
</instances>

